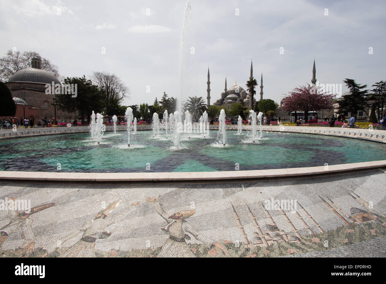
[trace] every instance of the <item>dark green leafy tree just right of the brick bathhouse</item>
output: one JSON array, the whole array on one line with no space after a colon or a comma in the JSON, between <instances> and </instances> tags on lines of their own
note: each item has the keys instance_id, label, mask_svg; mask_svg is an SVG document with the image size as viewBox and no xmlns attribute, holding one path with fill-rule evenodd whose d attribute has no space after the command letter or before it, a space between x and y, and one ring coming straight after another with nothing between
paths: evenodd
<instances>
[{"instance_id":1,"label":"dark green leafy tree just right of the brick bathhouse","mask_svg":"<svg viewBox=\"0 0 386 284\"><path fill-rule=\"evenodd\" d=\"M77 85L77 95L72 97L71 94L56 94L55 99L58 102L58 108L66 112L78 111L79 117L83 120L85 116L90 121L92 111L102 112L103 107L103 90L93 85L91 80L83 77L67 77L64 79L66 84Z\"/></svg>"}]
</instances>

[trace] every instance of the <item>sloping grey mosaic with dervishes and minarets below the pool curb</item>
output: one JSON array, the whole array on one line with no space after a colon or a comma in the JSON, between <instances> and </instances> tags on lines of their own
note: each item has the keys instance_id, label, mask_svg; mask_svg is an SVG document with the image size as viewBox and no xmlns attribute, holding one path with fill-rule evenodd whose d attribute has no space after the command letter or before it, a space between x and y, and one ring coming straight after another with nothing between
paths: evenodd
<instances>
[{"instance_id":1,"label":"sloping grey mosaic with dervishes and minarets below the pool curb","mask_svg":"<svg viewBox=\"0 0 386 284\"><path fill-rule=\"evenodd\" d=\"M1 182L0 255L385 257L385 184L380 170L224 184Z\"/></svg>"}]
</instances>

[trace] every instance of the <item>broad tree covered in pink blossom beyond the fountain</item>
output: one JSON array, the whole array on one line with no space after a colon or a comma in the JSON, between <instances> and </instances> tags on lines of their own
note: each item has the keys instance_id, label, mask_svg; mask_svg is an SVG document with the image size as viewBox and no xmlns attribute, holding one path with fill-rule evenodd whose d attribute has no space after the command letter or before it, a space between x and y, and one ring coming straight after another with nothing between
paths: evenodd
<instances>
[{"instance_id":1,"label":"broad tree covered in pink blossom beyond the fountain","mask_svg":"<svg viewBox=\"0 0 386 284\"><path fill-rule=\"evenodd\" d=\"M320 91L320 87L313 87L310 84L294 88L281 101L283 111L304 111L304 120L308 122L309 111L320 111L332 109L332 100L335 95L326 94Z\"/></svg>"}]
</instances>

